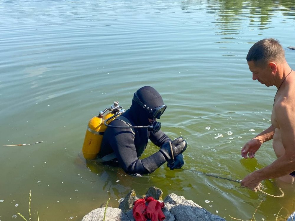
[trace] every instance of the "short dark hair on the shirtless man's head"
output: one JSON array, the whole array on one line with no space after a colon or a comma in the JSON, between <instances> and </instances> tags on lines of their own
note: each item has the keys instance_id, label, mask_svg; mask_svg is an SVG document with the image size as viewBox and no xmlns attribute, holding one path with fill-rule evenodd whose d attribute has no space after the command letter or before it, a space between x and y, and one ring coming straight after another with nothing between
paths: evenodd
<instances>
[{"instance_id":1,"label":"short dark hair on the shirtless man's head","mask_svg":"<svg viewBox=\"0 0 295 221\"><path fill-rule=\"evenodd\" d=\"M246 57L247 61L253 61L255 65L266 65L268 62L283 62L285 51L277 39L262 39L250 48Z\"/></svg>"}]
</instances>

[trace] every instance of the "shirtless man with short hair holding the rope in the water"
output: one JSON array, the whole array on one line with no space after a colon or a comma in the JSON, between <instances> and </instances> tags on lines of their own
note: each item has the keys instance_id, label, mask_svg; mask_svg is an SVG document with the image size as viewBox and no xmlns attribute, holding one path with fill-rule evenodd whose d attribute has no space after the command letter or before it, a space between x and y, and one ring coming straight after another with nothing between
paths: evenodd
<instances>
[{"instance_id":1,"label":"shirtless man with short hair holding the rope in the water","mask_svg":"<svg viewBox=\"0 0 295 221\"><path fill-rule=\"evenodd\" d=\"M279 178L293 183L295 178L295 71L288 65L285 52L273 38L256 42L249 50L247 62L253 74L267 87L278 90L273 102L271 126L248 141L241 150L242 157L254 158L261 144L273 139L277 159L272 164L247 175L241 186L257 190L265 179Z\"/></svg>"}]
</instances>

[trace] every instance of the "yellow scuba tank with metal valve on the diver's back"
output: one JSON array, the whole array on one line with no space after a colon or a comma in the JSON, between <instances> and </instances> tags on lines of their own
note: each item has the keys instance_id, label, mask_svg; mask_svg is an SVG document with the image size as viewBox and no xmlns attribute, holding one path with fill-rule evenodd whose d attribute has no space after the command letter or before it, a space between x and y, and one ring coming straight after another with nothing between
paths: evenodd
<instances>
[{"instance_id":1,"label":"yellow scuba tank with metal valve on the diver's back","mask_svg":"<svg viewBox=\"0 0 295 221\"><path fill-rule=\"evenodd\" d=\"M99 112L98 116L90 119L82 147L82 152L85 159L92 160L96 158L101 148L104 131L106 130L104 121L114 116L118 112L123 113L124 110L121 106L119 106L119 102L115 101L111 108L106 108L104 111ZM119 116L119 114L117 116ZM114 116L114 118L110 119L106 123L109 124L111 121L117 118L117 116Z\"/></svg>"}]
</instances>

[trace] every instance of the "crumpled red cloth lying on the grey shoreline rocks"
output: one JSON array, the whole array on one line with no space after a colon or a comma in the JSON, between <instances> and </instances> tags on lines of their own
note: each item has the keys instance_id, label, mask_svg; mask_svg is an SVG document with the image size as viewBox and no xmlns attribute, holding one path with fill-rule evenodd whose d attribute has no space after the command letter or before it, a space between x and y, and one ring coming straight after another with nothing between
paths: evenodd
<instances>
[{"instance_id":1,"label":"crumpled red cloth lying on the grey shoreline rocks","mask_svg":"<svg viewBox=\"0 0 295 221\"><path fill-rule=\"evenodd\" d=\"M145 199L137 199L134 202L133 217L135 221L163 221L165 215L162 208L165 206L164 202L159 202L153 197L145 197Z\"/></svg>"}]
</instances>

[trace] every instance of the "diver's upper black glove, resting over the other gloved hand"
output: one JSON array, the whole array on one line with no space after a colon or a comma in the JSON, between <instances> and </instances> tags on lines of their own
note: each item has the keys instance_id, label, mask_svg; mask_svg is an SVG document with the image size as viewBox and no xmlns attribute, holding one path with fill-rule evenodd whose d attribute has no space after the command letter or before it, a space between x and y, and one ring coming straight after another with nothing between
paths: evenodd
<instances>
[{"instance_id":1,"label":"diver's upper black glove, resting over the other gloved hand","mask_svg":"<svg viewBox=\"0 0 295 221\"><path fill-rule=\"evenodd\" d=\"M172 164L173 161L175 161L176 156L186 150L186 146L186 141L183 140L182 137L178 137L172 142L164 143L160 148L160 152L164 155L166 161L169 164Z\"/></svg>"}]
</instances>

